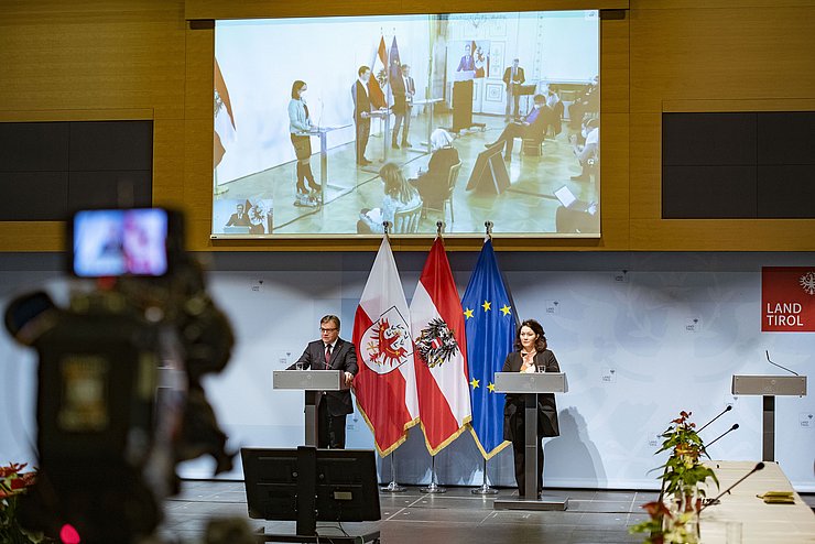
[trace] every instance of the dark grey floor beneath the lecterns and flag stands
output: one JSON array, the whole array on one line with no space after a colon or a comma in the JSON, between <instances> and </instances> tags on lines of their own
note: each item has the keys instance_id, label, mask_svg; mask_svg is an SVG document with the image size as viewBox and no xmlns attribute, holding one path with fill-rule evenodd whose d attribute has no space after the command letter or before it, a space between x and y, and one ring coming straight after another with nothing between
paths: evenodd
<instances>
[{"instance_id":1,"label":"dark grey floor beneath the lecterns and flag stands","mask_svg":"<svg viewBox=\"0 0 815 544\"><path fill-rule=\"evenodd\" d=\"M517 493L502 489L498 497ZM379 530L387 544L496 544L496 543L634 543L628 526L644 519L639 504L653 500L654 492L550 490L569 498L565 512L496 511L496 496L474 496L470 488L448 488L430 496L419 488L404 493L381 493L382 521L344 523L349 534ZM165 542L199 542L213 518L247 520L253 530L293 533L294 522L249 520L242 482L186 481L181 496L165 502ZM336 523L318 523L320 536L339 535Z\"/></svg>"}]
</instances>

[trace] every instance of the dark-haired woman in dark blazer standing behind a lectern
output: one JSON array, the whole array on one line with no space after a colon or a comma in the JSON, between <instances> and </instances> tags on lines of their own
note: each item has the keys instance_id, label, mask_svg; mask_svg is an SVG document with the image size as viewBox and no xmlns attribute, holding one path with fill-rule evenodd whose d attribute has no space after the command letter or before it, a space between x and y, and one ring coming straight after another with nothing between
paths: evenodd
<instances>
[{"instance_id":1,"label":"dark-haired woman in dark blazer standing behind a lectern","mask_svg":"<svg viewBox=\"0 0 815 544\"><path fill-rule=\"evenodd\" d=\"M534 319L521 324L515 337L515 351L507 356L503 372L559 372L555 353L546 349L543 327ZM515 482L518 494L523 497L524 487L524 409L523 395L507 393L503 406L503 439L512 442L515 458ZM545 436L558 436L557 406L553 393L537 395L537 494L543 491L543 446Z\"/></svg>"}]
</instances>

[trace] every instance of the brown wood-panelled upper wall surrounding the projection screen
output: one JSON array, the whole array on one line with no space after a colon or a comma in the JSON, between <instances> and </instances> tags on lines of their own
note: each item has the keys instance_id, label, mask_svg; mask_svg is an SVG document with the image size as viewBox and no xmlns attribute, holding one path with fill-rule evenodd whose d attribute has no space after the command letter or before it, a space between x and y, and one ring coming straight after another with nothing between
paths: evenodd
<instances>
[{"instance_id":1,"label":"brown wood-panelled upper wall surrounding the projection screen","mask_svg":"<svg viewBox=\"0 0 815 544\"><path fill-rule=\"evenodd\" d=\"M376 240L248 241L213 244L211 29L185 19L378 12L468 11L384 0L0 0L4 52L0 120L154 120L157 204L181 206L195 250L369 250ZM568 6L566 6L568 3ZM557 6L556 6L557 4ZM559 6L563 4L563 6ZM601 22L602 238L497 239L517 250L811 250L811 220L662 220L663 111L815 110L815 0L596 0L624 8ZM575 9L574 2L501 0L495 10ZM579 6L578 6L579 8ZM273 10L273 11L272 11ZM426 249L428 239L394 239ZM477 239L449 239L476 249ZM56 222L0 224L0 250L62 249Z\"/></svg>"}]
</instances>

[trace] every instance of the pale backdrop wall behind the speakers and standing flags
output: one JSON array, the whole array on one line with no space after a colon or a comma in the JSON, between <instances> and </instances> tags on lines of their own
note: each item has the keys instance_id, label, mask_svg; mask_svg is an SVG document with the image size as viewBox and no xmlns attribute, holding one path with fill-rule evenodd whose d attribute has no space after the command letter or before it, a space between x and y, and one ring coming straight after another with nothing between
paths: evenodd
<instances>
[{"instance_id":1,"label":"pale backdrop wall behind the speakers and standing flags","mask_svg":"<svg viewBox=\"0 0 815 544\"><path fill-rule=\"evenodd\" d=\"M409 300L424 254L396 261ZM476 253L452 253L464 292ZM206 383L230 445L295 447L303 440L303 395L271 389L271 371L291 363L316 338L318 319L337 313L350 337L354 312L372 253L220 254L210 287L232 319L238 345L224 374ZM815 335L760 333L760 268L809 265L791 253L499 253L522 318L539 318L568 373L558 395L561 436L545 443L545 481L552 487L654 488L658 435L681 410L699 424L734 410L704 432L709 442L734 423L740 428L710 447L718 459L759 459L761 401L729 394L734 373L773 373L764 350L801 373L815 370ZM64 298L53 255L0 257L0 302L45 284ZM627 270L627 273L622 273ZM622 280L622 281L620 281ZM262 281L262 284L260 283ZM778 372L781 372L778 370ZM0 338L0 459L33 460L34 357ZM815 394L779 398L776 458L801 491L815 491ZM359 414L348 418L348 446L371 448ZM421 431L396 450L398 478L424 483L430 456ZM436 458L447 485L480 485L481 459L463 435ZM390 476L381 461L381 477ZM207 478L211 465L182 468ZM493 485L512 486L511 450L488 465ZM240 470L230 475L240 478Z\"/></svg>"}]
</instances>

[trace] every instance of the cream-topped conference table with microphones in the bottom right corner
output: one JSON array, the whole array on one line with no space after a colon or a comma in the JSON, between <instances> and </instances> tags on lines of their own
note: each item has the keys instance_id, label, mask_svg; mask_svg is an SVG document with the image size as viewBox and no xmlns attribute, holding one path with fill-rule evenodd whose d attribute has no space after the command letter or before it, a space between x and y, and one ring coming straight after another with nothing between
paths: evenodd
<instances>
[{"instance_id":1,"label":"cream-topped conference table with microphones in the bottom right corner","mask_svg":"<svg viewBox=\"0 0 815 544\"><path fill-rule=\"evenodd\" d=\"M719 479L707 487L707 497L714 498L748 474L756 461L707 461ZM741 524L743 544L804 544L815 543L815 514L793 493L795 504L765 504L756 497L767 491L793 491L790 480L778 463L764 461L764 469L739 483L720 504L706 508L700 515L702 544L725 544L727 524ZM729 544L729 543L728 543Z\"/></svg>"}]
</instances>

